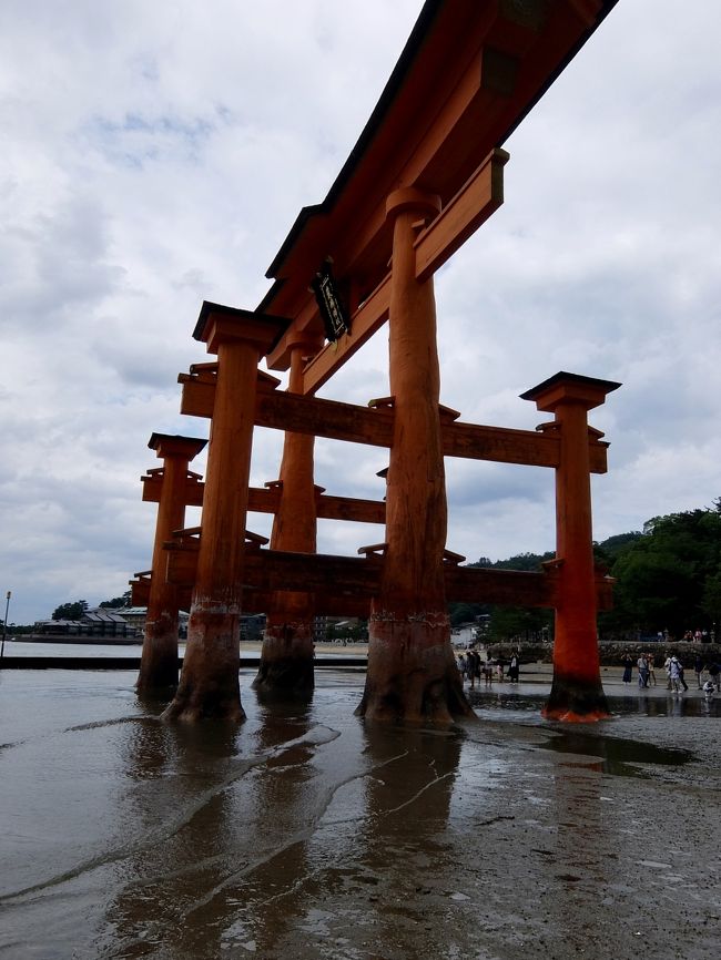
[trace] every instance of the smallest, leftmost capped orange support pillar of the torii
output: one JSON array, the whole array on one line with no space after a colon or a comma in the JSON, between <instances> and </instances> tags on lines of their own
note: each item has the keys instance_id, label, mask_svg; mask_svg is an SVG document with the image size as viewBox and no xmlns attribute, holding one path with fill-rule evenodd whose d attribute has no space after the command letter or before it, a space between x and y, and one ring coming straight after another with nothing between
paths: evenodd
<instances>
[{"instance_id":1,"label":"smallest, leftmost capped orange support pillar of the torii","mask_svg":"<svg viewBox=\"0 0 721 960\"><path fill-rule=\"evenodd\" d=\"M145 636L138 675L138 691L153 693L177 686L177 589L165 578L167 553L164 544L185 522L189 483L200 487L187 464L206 440L153 433L148 446L163 460L158 522L153 545L152 578L148 599ZM154 478L146 478L154 479Z\"/></svg>"}]
</instances>

